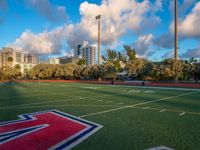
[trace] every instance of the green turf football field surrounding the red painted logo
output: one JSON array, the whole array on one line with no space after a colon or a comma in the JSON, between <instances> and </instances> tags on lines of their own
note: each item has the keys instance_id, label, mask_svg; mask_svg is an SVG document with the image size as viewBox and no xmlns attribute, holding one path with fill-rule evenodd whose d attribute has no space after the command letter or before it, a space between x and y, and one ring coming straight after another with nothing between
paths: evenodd
<instances>
[{"instance_id":1,"label":"green turf football field surrounding the red painted logo","mask_svg":"<svg viewBox=\"0 0 200 150\"><path fill-rule=\"evenodd\" d=\"M0 83L0 121L43 110L103 125L75 150L200 150L200 90L81 83Z\"/></svg>"}]
</instances>

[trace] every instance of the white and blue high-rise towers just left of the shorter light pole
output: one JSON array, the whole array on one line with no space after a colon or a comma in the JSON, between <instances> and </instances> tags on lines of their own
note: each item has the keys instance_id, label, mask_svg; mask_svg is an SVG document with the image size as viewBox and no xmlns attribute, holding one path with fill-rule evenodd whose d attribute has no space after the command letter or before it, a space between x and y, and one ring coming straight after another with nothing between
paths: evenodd
<instances>
[{"instance_id":1,"label":"white and blue high-rise towers just left of the shorter light pole","mask_svg":"<svg viewBox=\"0 0 200 150\"><path fill-rule=\"evenodd\" d=\"M83 41L76 45L74 55L79 58L85 58L87 66L94 65L96 61L96 47L90 45L87 41Z\"/></svg>"}]
</instances>

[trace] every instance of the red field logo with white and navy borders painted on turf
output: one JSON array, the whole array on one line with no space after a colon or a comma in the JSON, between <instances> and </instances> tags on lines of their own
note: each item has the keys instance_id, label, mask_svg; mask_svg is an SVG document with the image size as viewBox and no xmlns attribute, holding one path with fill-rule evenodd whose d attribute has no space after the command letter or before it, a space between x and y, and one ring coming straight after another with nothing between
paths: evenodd
<instances>
[{"instance_id":1,"label":"red field logo with white and navy borders painted on turf","mask_svg":"<svg viewBox=\"0 0 200 150\"><path fill-rule=\"evenodd\" d=\"M52 110L19 116L0 123L0 149L71 149L101 125Z\"/></svg>"}]
</instances>

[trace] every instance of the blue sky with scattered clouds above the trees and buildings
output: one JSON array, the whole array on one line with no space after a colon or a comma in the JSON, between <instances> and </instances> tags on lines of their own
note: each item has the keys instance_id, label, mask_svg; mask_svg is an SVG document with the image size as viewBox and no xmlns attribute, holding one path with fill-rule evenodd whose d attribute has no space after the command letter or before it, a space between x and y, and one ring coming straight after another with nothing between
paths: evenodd
<instances>
[{"instance_id":1,"label":"blue sky with scattered clouds above the trees and buildings","mask_svg":"<svg viewBox=\"0 0 200 150\"><path fill-rule=\"evenodd\" d=\"M179 0L179 57L200 58L200 0ZM0 0L0 49L42 56L72 56L81 41L101 53L122 51L153 61L174 55L174 0Z\"/></svg>"}]
</instances>

